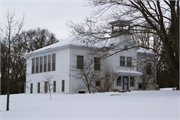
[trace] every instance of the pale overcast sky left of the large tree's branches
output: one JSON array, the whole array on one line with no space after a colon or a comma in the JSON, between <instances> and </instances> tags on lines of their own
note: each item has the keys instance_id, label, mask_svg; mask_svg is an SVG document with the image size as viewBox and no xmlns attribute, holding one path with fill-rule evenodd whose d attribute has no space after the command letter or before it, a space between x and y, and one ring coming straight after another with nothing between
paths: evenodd
<instances>
[{"instance_id":1,"label":"pale overcast sky left of the large tree's branches","mask_svg":"<svg viewBox=\"0 0 180 120\"><path fill-rule=\"evenodd\" d=\"M15 11L16 19L25 15L23 30L46 28L58 39L69 37L67 21L83 22L92 13L85 0L0 0L1 25L7 11Z\"/></svg>"}]
</instances>

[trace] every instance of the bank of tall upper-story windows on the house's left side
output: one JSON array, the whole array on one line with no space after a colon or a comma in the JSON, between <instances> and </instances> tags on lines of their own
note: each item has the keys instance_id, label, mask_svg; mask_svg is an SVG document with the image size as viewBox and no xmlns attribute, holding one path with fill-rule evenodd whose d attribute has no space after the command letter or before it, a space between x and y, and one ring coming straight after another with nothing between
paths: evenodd
<instances>
[{"instance_id":1,"label":"bank of tall upper-story windows on the house's left side","mask_svg":"<svg viewBox=\"0 0 180 120\"><path fill-rule=\"evenodd\" d=\"M52 56L52 57L51 57ZM32 59L32 74L47 71L55 71L56 54L45 55Z\"/></svg>"}]
</instances>

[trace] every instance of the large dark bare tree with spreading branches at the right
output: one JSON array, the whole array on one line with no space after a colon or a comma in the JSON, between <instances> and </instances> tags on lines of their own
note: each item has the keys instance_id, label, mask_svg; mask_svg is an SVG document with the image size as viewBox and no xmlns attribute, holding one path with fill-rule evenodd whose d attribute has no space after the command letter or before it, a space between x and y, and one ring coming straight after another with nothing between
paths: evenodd
<instances>
[{"instance_id":1,"label":"large dark bare tree with spreading branches at the right","mask_svg":"<svg viewBox=\"0 0 180 120\"><path fill-rule=\"evenodd\" d=\"M71 32L84 36L96 34L110 35L110 27L107 22L119 19L128 19L133 22L128 30L133 34L145 33L144 38L158 36L151 42L143 40L139 47L152 50L161 56L162 62L173 69L176 74L176 85L179 89L179 1L140 1L140 0L89 0L91 6L97 7L93 18L83 24L70 24ZM92 22L93 21L93 22ZM104 22L105 21L105 22ZM95 24L91 26L92 24ZM89 29L91 27L91 29ZM127 31L119 31L124 34ZM149 36L148 36L149 35ZM110 38L107 36L106 38ZM107 40L97 37L96 41ZM137 39L138 41L139 39ZM160 44L160 51L150 44ZM118 51L117 51L118 52Z\"/></svg>"}]
</instances>

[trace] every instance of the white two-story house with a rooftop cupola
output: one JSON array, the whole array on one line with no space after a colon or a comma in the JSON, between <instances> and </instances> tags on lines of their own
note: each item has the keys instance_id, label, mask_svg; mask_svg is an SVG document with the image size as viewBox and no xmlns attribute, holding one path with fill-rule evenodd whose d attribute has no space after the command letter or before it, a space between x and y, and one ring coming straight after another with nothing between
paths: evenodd
<instances>
[{"instance_id":1,"label":"white two-story house with a rooftop cupola","mask_svg":"<svg viewBox=\"0 0 180 120\"><path fill-rule=\"evenodd\" d=\"M93 69L103 70L108 68L113 71L113 74L117 77L111 90L139 90L143 89L144 86L146 86L146 89L154 89L156 69L153 66L155 66L155 63L146 61L146 58L151 58L154 53L137 48L132 42L129 33L118 35L117 29L115 30L114 28L121 23L122 21L110 23L113 28L112 35L114 38L109 40L107 47L125 50L107 57L105 59L105 67L101 67L102 61L98 56L92 56L94 57ZM124 23L121 26L122 28L130 24L127 21ZM47 81L44 78L46 74L54 76L51 81L53 92L78 93L82 89L86 92L88 91L81 79L72 76L72 74L76 73L72 71L71 67L76 66L75 69L77 70L83 69L83 63L88 59L85 54L89 51L89 48L72 43L73 39L75 38L63 40L24 55L27 58L26 93L48 92ZM134 48L128 49L132 46ZM106 52L111 53L112 50L110 49ZM99 86L100 82L96 82L96 85Z\"/></svg>"}]
</instances>

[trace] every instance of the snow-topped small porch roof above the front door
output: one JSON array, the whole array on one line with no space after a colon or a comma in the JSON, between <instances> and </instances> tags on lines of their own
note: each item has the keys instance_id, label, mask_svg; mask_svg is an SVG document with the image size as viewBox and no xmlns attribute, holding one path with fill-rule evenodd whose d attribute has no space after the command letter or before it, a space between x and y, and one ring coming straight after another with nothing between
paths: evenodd
<instances>
[{"instance_id":1,"label":"snow-topped small porch roof above the front door","mask_svg":"<svg viewBox=\"0 0 180 120\"><path fill-rule=\"evenodd\" d=\"M119 69L115 72L117 75L124 75L124 76L142 76L142 72L134 71L134 70L122 70Z\"/></svg>"}]
</instances>

